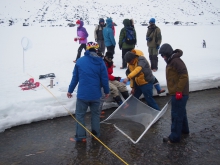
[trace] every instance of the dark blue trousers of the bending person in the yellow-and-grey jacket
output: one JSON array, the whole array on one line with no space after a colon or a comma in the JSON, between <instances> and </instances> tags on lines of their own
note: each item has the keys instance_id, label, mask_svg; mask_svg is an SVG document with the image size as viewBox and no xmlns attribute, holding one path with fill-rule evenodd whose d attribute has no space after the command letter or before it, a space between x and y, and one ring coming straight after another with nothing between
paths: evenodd
<instances>
[{"instance_id":1,"label":"dark blue trousers of the bending person in the yellow-and-grey jacket","mask_svg":"<svg viewBox=\"0 0 220 165\"><path fill-rule=\"evenodd\" d=\"M145 85L135 87L134 97L139 99L139 97L142 94L144 95L147 105L149 105L150 107L156 110L160 110L156 101L153 98L153 83L148 83Z\"/></svg>"}]
</instances>

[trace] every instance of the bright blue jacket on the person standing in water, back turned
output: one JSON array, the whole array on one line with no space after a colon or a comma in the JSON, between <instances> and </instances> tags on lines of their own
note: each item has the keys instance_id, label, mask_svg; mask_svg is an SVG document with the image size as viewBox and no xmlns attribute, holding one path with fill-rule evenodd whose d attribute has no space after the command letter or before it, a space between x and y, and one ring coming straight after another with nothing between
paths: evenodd
<instances>
[{"instance_id":1,"label":"bright blue jacket on the person standing in water, back turned","mask_svg":"<svg viewBox=\"0 0 220 165\"><path fill-rule=\"evenodd\" d=\"M77 84L78 99L100 99L102 96L101 87L103 87L105 94L109 93L108 73L105 63L95 52L87 50L84 56L77 60L68 92L73 93Z\"/></svg>"}]
</instances>

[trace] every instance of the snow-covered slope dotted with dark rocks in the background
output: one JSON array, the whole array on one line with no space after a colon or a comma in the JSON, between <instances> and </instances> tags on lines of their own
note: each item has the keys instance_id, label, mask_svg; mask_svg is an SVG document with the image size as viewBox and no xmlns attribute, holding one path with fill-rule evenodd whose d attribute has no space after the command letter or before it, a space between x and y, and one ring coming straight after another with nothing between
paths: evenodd
<instances>
[{"instance_id":1,"label":"snow-covered slope dotted with dark rocks in the background","mask_svg":"<svg viewBox=\"0 0 220 165\"><path fill-rule=\"evenodd\" d=\"M97 24L99 18L121 24L133 18L136 25L148 23L182 25L220 24L219 0L0 0L0 26L68 26L81 19Z\"/></svg>"}]
</instances>

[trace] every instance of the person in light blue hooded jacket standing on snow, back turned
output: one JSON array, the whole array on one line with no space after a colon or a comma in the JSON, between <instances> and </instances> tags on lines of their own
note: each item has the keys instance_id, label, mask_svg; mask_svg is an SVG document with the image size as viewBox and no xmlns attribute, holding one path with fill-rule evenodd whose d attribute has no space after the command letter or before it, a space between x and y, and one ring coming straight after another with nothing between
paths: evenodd
<instances>
[{"instance_id":1,"label":"person in light blue hooded jacket standing on snow, back turned","mask_svg":"<svg viewBox=\"0 0 220 165\"><path fill-rule=\"evenodd\" d=\"M116 42L115 42L114 32L112 30L112 24L113 24L112 19L107 18L106 27L103 29L103 37L107 51L112 52L112 54L114 55Z\"/></svg>"}]
</instances>

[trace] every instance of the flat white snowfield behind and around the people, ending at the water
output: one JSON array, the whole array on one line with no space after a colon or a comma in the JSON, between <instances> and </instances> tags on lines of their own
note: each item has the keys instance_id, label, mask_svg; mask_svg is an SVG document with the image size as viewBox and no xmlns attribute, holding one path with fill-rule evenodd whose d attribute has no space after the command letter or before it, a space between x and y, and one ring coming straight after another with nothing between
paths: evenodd
<instances>
[{"instance_id":1,"label":"flat white snowfield behind and around the people, ending at the water","mask_svg":"<svg viewBox=\"0 0 220 165\"><path fill-rule=\"evenodd\" d=\"M94 41L94 26L85 26L88 41ZM116 27L116 42L121 26ZM220 47L217 33L219 26L166 26L160 25L163 43L183 50L182 59L189 72L190 91L220 86ZM145 53L148 59L145 35L147 27L136 26L138 44L136 49ZM66 92L71 80L76 52L76 28L1 27L0 28L0 132L12 126L31 123L74 113L76 97L68 99ZM31 42L23 51L21 40L27 37ZM202 48L202 40L207 48ZM116 45L114 62L115 76L125 77L120 70L121 51ZM23 56L24 55L24 56ZM161 86L166 88L165 65L159 56L159 70L154 75ZM55 73L55 86L47 87L50 79L39 80L39 75ZM22 82L34 77L41 83L36 90L22 91ZM130 90L130 87L128 86ZM76 93L74 93L76 94ZM108 101L111 101L109 99ZM104 108L117 106L106 103ZM65 109L65 108L66 109Z\"/></svg>"}]
</instances>

